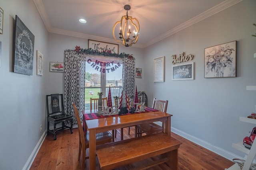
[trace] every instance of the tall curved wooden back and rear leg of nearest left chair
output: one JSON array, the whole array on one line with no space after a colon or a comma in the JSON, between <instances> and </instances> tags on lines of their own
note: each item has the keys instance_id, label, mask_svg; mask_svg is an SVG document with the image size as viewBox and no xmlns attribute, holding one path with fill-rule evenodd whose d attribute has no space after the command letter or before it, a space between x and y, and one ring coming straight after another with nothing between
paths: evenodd
<instances>
[{"instance_id":1,"label":"tall curved wooden back and rear leg of nearest left chair","mask_svg":"<svg viewBox=\"0 0 256 170\"><path fill-rule=\"evenodd\" d=\"M78 160L80 160L81 156L81 151L82 151L82 166L81 170L84 170L85 168L85 155L86 155L86 146L85 146L85 138L84 138L84 131L82 127L82 122L78 113L78 109L76 105L73 103L74 111L75 111L75 116L76 116L76 121L78 125L78 131L79 131L79 155L78 155Z\"/></svg>"}]
</instances>

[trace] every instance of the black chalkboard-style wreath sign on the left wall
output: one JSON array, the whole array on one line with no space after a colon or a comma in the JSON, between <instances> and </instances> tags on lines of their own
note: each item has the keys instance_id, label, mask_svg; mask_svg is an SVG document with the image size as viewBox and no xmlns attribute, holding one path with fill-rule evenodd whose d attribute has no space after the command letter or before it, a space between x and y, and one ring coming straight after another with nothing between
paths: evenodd
<instances>
[{"instance_id":1,"label":"black chalkboard-style wreath sign on the left wall","mask_svg":"<svg viewBox=\"0 0 256 170\"><path fill-rule=\"evenodd\" d=\"M34 35L16 15L14 27L13 72L33 74Z\"/></svg>"}]
</instances>

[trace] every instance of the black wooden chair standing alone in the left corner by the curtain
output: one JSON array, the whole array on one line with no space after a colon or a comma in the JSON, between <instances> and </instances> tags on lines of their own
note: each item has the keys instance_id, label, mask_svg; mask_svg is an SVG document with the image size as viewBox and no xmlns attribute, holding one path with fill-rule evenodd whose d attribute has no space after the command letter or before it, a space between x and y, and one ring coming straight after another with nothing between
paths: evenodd
<instances>
[{"instance_id":1,"label":"black wooden chair standing alone in the left corner by the curtain","mask_svg":"<svg viewBox=\"0 0 256 170\"><path fill-rule=\"evenodd\" d=\"M56 131L70 128L71 134L73 133L73 115L64 113L63 107L63 95L62 94L50 94L46 95L46 107L47 107L47 135L49 132L54 134L54 140L57 139ZM66 126L65 121L70 121L71 125ZM49 124L52 123L54 128L49 129ZM62 123L62 127L56 128L56 124Z\"/></svg>"}]
</instances>

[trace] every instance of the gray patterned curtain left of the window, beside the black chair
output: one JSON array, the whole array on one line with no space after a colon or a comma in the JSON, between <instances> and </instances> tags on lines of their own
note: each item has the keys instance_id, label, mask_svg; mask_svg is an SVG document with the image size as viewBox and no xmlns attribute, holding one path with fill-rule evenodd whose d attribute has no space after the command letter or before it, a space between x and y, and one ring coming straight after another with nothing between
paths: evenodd
<instances>
[{"instance_id":1,"label":"gray patterned curtain left of the window, beside the black chair","mask_svg":"<svg viewBox=\"0 0 256 170\"><path fill-rule=\"evenodd\" d=\"M85 53L65 50L64 111L72 115L74 115L73 103L76 104L79 113L84 110L85 63ZM81 120L82 117L81 114ZM77 124L76 119L74 119L74 124Z\"/></svg>"}]
</instances>

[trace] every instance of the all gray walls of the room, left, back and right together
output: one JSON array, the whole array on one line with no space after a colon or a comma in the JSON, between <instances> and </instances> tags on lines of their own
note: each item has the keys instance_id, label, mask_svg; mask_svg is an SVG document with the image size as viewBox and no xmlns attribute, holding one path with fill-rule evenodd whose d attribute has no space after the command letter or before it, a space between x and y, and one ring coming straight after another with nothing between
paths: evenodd
<instances>
[{"instance_id":1,"label":"all gray walls of the room, left, back and right together","mask_svg":"<svg viewBox=\"0 0 256 170\"><path fill-rule=\"evenodd\" d=\"M256 1L243 0L145 49L119 46L119 52L133 54L142 78L136 78L138 91L152 98L169 100L172 131L226 158L243 157L232 143L242 141L254 127L239 121L255 112L256 92ZM47 33L32 0L0 1L4 10L4 34L0 67L0 169L29 168L45 137L45 95L63 92L64 74L49 72L49 62L64 62L64 50L88 47L88 40ZM12 39L15 15L35 35L33 75L13 73ZM204 78L204 48L238 41L236 78ZM36 75L36 50L44 54L43 76ZM194 55L195 80L171 80L171 56ZM153 82L153 59L165 56L165 82ZM43 131L40 132L42 124ZM15 162L13 162L15 160Z\"/></svg>"}]
</instances>

